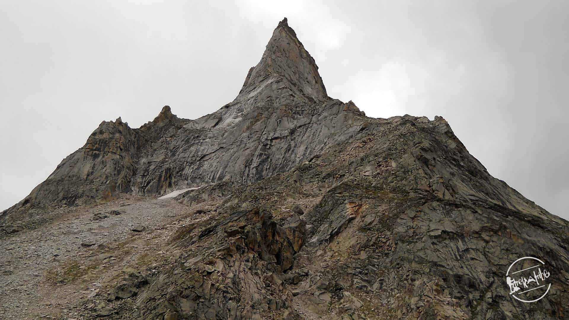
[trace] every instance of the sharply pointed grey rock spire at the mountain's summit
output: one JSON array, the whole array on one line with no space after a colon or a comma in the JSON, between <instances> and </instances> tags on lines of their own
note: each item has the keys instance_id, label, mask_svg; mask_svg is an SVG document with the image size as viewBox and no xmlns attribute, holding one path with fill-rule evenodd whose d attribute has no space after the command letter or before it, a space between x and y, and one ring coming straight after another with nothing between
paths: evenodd
<instances>
[{"instance_id":1,"label":"sharply pointed grey rock spire at the mountain's summit","mask_svg":"<svg viewBox=\"0 0 569 320\"><path fill-rule=\"evenodd\" d=\"M236 100L250 98L262 91L276 100L290 97L291 91L297 99L328 99L314 58L296 38L287 18L273 31L261 61L249 70Z\"/></svg>"}]
</instances>

